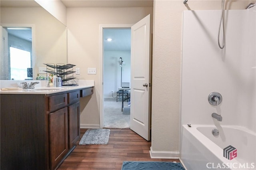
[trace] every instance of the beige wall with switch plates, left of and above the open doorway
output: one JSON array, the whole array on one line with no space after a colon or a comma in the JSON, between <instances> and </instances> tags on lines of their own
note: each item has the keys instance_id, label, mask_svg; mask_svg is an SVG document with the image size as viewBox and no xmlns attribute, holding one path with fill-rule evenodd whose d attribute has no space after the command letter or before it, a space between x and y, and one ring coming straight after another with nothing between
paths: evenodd
<instances>
[{"instance_id":1,"label":"beige wall with switch plates, left of and above the open doorway","mask_svg":"<svg viewBox=\"0 0 256 170\"><path fill-rule=\"evenodd\" d=\"M94 80L94 94L91 98L80 100L81 127L100 126L100 25L101 24L135 24L153 8L67 8L68 28L68 63L80 68L81 80ZM96 75L88 75L88 67L97 69Z\"/></svg>"}]
</instances>

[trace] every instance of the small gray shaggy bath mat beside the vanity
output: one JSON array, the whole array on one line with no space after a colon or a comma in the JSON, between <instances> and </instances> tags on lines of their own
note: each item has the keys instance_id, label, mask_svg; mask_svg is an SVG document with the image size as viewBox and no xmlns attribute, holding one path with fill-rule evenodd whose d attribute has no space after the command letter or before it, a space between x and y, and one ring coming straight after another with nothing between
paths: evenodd
<instances>
[{"instance_id":1,"label":"small gray shaggy bath mat beside the vanity","mask_svg":"<svg viewBox=\"0 0 256 170\"><path fill-rule=\"evenodd\" d=\"M79 144L108 144L110 129L88 129L82 136Z\"/></svg>"}]
</instances>

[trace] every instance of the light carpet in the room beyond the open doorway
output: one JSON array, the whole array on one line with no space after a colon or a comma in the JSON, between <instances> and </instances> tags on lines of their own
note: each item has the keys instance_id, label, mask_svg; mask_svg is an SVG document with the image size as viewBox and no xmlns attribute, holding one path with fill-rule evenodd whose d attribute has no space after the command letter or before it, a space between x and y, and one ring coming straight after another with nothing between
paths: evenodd
<instances>
[{"instance_id":1,"label":"light carpet in the room beyond the open doorway","mask_svg":"<svg viewBox=\"0 0 256 170\"><path fill-rule=\"evenodd\" d=\"M124 101L122 111L122 99L104 99L104 128L130 128L130 107Z\"/></svg>"}]
</instances>

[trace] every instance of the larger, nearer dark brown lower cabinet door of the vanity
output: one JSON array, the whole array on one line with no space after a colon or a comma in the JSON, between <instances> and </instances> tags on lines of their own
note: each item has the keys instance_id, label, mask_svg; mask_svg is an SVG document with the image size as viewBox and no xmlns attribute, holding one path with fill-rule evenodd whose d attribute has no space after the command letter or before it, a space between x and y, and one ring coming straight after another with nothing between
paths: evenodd
<instances>
[{"instance_id":1,"label":"larger, nearer dark brown lower cabinet door of the vanity","mask_svg":"<svg viewBox=\"0 0 256 170\"><path fill-rule=\"evenodd\" d=\"M68 107L49 114L50 169L68 153Z\"/></svg>"}]
</instances>

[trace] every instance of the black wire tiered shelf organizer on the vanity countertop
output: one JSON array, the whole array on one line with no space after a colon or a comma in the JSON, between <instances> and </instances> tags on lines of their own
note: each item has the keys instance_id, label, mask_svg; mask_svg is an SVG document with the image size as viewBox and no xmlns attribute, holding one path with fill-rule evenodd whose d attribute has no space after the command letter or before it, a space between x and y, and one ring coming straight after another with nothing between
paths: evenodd
<instances>
[{"instance_id":1,"label":"black wire tiered shelf organizer on the vanity countertop","mask_svg":"<svg viewBox=\"0 0 256 170\"><path fill-rule=\"evenodd\" d=\"M59 77L61 77L62 79L62 85L66 85L66 86L72 86L72 85L77 85L76 81L74 79L76 79L76 77L74 77L74 73L76 71L74 71L73 67L76 66L74 64L64 64L64 63L58 63L58 64L54 64L54 63L47 63L46 65L46 72L50 73L52 75L59 75ZM72 81L72 83L70 83L70 81Z\"/></svg>"}]
</instances>

